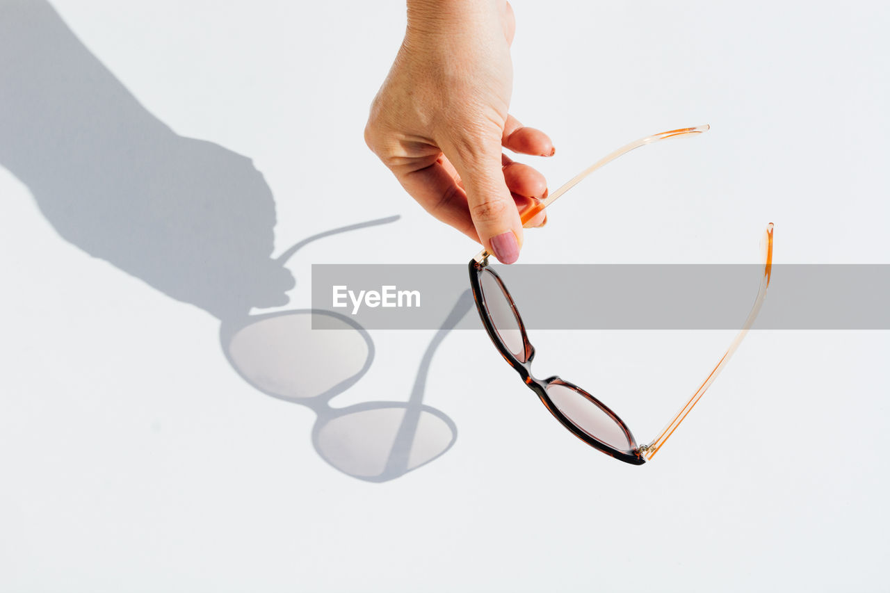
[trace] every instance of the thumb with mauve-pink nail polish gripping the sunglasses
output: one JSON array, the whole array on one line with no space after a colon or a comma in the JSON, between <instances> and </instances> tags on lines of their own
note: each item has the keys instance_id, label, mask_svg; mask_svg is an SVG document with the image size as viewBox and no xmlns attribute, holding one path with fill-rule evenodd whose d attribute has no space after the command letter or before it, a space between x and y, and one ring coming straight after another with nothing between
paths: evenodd
<instances>
[{"instance_id":1,"label":"thumb with mauve-pink nail polish gripping the sunglasses","mask_svg":"<svg viewBox=\"0 0 890 593\"><path fill-rule=\"evenodd\" d=\"M501 264L513 264L522 246L522 221L504 181L500 137L461 144L442 151L460 175L479 240Z\"/></svg>"}]
</instances>

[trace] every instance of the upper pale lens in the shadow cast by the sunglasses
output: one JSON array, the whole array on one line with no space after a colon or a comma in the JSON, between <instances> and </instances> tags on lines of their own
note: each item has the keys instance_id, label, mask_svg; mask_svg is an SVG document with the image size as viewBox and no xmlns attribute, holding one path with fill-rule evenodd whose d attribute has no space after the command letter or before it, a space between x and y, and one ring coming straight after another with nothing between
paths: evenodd
<instances>
[{"instance_id":1,"label":"upper pale lens in the shadow cast by the sunglasses","mask_svg":"<svg viewBox=\"0 0 890 593\"><path fill-rule=\"evenodd\" d=\"M312 329L312 314L286 313L239 329L228 345L231 364L251 385L287 400L323 394L358 375L368 342L345 321Z\"/></svg>"}]
</instances>

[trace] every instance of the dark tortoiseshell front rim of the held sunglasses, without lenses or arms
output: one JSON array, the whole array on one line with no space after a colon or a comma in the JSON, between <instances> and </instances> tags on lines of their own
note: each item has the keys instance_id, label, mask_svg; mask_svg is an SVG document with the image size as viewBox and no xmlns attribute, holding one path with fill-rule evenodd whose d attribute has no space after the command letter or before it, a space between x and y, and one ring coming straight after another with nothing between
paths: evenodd
<instances>
[{"instance_id":1,"label":"dark tortoiseshell front rim of the held sunglasses, without lenses or arms","mask_svg":"<svg viewBox=\"0 0 890 593\"><path fill-rule=\"evenodd\" d=\"M473 299L476 302L476 310L479 311L479 317L482 321L482 325L485 327L485 331L488 332L491 341L494 343L495 347L498 348L498 352L501 353L501 356L504 357L510 366L512 366L516 372L519 373L519 376L522 377L522 381L525 382L529 388L538 395L538 398L542 403L546 406L547 410L550 410L550 413L554 415L554 418L560 421L562 426L568 428L572 435L577 436L579 439L590 445L591 447L595 447L596 449L603 451L606 455L610 455L615 459L620 459L626 463L633 464L635 466L643 465L646 462L646 459L643 457L642 451L640 451L639 447L636 444L636 440L634 435L631 434L630 429L627 428L627 425L624 421L618 417L618 415L609 409L603 402L600 402L593 395L588 394L586 391L581 389L580 387L569 383L568 381L564 381L561 378L554 375L554 377L549 377L546 379L535 378L531 374L531 361L535 357L535 347L531 345L529 341L529 336L525 331L525 325L522 323L522 316L519 314L519 311L516 309L516 304L514 303L513 297L510 296L510 291L506 289L504 285L504 281L501 280L500 276L498 276L498 272L495 272L490 267L488 267L488 258L482 259L481 262L477 262L475 259L470 260L470 286L473 288ZM514 316L516 318L517 323L519 324L520 333L522 334L522 345L524 348L524 356L525 361L521 361L517 358L513 353L510 352L509 348L506 347L504 341L498 335L498 330L495 329L494 323L491 321L491 315L489 313L488 305L485 303L485 294L482 291L481 278L482 274L489 273L491 276L498 282L498 286L504 292L504 296L506 296L507 302L510 304L510 308L513 310ZM554 402L551 401L550 396L547 395L547 386L551 385L562 385L567 386L570 389L574 390L578 394L583 395L587 400L592 402L595 406L597 406L600 410L603 410L606 414L608 414L620 427L624 430L625 435L627 435L627 441L630 443L630 451L620 451L615 447L612 447L609 444L602 443L598 441L595 437L588 435L586 431L582 430L578 426L576 426L569 418L566 418L564 414L554 405Z\"/></svg>"}]
</instances>

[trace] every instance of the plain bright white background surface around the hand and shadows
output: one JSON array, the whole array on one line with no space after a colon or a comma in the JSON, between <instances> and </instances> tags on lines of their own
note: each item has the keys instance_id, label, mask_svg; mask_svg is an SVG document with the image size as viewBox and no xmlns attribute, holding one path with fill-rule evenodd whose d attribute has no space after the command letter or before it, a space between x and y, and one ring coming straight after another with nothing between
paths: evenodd
<instances>
[{"instance_id":1,"label":"plain bright white background surface around the hand and shadows","mask_svg":"<svg viewBox=\"0 0 890 593\"><path fill-rule=\"evenodd\" d=\"M401 215L301 251L290 307L308 305L312 262L477 250L362 140L401 2L53 5L177 134L254 160L275 253ZM567 194L522 261L753 262L773 222L776 262L890 263L886 4L514 10L512 111L554 139L539 164L552 188L636 137L712 126ZM311 410L239 378L216 319L61 239L4 169L0 196L4 591L886 590L886 332L753 333L643 467L578 443L488 337L457 332L425 392L457 443L366 483L319 458ZM376 332L374 365L336 405L407 399L431 336ZM643 440L728 342L532 338L538 376L588 386Z\"/></svg>"}]
</instances>

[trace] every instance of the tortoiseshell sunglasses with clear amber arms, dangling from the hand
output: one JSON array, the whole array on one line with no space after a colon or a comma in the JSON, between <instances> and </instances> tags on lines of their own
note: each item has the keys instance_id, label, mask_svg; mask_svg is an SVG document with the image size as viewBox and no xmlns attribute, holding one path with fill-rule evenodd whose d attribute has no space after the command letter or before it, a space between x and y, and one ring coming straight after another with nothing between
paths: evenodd
<instances>
[{"instance_id":1,"label":"tortoiseshell sunglasses with clear amber arms, dangling from the hand","mask_svg":"<svg viewBox=\"0 0 890 593\"><path fill-rule=\"evenodd\" d=\"M631 150L652 142L679 136L701 134L708 131L708 129L709 126L686 127L647 136L622 146L592 166L587 167L587 169L572 178L569 183L554 191L553 194L538 200L524 210L521 213L523 226L544 210L545 207L552 204L555 199L587 177L587 175L610 163L615 158L619 158ZM529 341L529 335L525 330L525 325L522 323L522 316L519 314L519 309L514 298L510 296L504 280L498 276L498 272L489 267L490 254L485 250L470 260L470 285L473 288L473 299L476 303L476 309L479 311L482 325L488 332L491 341L498 348L498 352L501 353L507 363L519 373L526 386L529 386L538 395L538 398L544 403L546 409L550 410L554 418L559 420L562 426L568 428L571 434L599 451L603 451L603 453L611 455L615 459L620 459L630 464L642 465L655 456L655 453L661 449L667 438L674 433L676 427L680 426L680 423L683 422L684 418L695 407L695 404L699 402L701 396L705 394L705 391L714 382L716 376L724 369L726 363L732 357L732 353L735 353L741 340L748 334L748 330L754 324L757 313L760 312L760 308L764 303L766 288L770 284L770 273L773 267L773 223L770 223L766 228L761 248L764 257L764 274L760 281L760 287L757 290L754 306L751 308L751 312L748 313L748 319L732 340L732 344L723 357L717 362L714 370L708 374L708 377L692 394L689 401L667 423L667 426L655 439L643 445L636 443L634 435L630 432L627 424L619 418L618 414L581 387L559 377L539 379L531 374L531 361L535 357L535 348Z\"/></svg>"}]
</instances>

